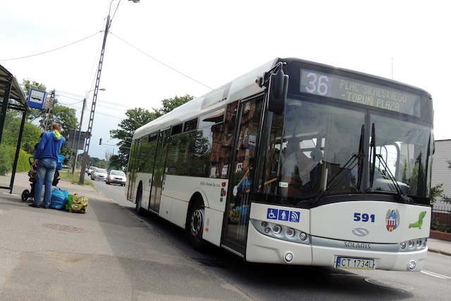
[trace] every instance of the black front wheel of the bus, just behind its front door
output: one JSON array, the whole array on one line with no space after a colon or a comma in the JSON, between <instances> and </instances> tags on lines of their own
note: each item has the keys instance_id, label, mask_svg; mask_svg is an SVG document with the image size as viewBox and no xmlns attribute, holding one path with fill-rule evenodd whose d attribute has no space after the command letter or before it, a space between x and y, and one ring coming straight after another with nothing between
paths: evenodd
<instances>
[{"instance_id":1,"label":"black front wheel of the bus, just behind its front door","mask_svg":"<svg viewBox=\"0 0 451 301\"><path fill-rule=\"evenodd\" d=\"M197 199L194 200L187 223L187 235L194 250L204 252L206 250L206 241L202 238L204 233L204 203Z\"/></svg>"}]
</instances>

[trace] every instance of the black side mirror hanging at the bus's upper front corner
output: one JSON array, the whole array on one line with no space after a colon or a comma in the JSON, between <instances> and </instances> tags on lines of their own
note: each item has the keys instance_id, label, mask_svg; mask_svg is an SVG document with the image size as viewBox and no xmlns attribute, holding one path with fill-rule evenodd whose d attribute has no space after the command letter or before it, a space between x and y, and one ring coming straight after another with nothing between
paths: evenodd
<instances>
[{"instance_id":1,"label":"black side mirror hanging at the bus's upper front corner","mask_svg":"<svg viewBox=\"0 0 451 301\"><path fill-rule=\"evenodd\" d=\"M283 114L285 99L288 92L288 75L280 68L276 74L271 74L269 80L268 110L278 115Z\"/></svg>"}]
</instances>

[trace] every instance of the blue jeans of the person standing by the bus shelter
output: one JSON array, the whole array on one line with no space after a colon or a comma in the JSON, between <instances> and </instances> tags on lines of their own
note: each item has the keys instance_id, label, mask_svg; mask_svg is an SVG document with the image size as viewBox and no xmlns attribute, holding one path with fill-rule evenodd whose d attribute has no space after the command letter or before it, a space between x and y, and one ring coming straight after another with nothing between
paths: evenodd
<instances>
[{"instance_id":1,"label":"blue jeans of the person standing by the bus shelter","mask_svg":"<svg viewBox=\"0 0 451 301\"><path fill-rule=\"evenodd\" d=\"M50 158L39 159L37 162L35 199L33 203L39 206L42 196L42 185L45 185L44 207L49 207L51 196L51 183L54 180L56 171L56 160Z\"/></svg>"}]
</instances>

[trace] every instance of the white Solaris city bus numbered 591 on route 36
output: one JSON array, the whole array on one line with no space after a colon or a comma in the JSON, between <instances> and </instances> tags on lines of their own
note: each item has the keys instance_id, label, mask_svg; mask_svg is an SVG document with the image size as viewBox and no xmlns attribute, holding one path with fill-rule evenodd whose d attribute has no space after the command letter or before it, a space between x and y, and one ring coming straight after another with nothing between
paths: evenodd
<instances>
[{"instance_id":1,"label":"white Solaris city bus numbered 591 on route 36","mask_svg":"<svg viewBox=\"0 0 451 301\"><path fill-rule=\"evenodd\" d=\"M275 59L143 125L126 197L249 262L418 271L431 223L424 90Z\"/></svg>"}]
</instances>

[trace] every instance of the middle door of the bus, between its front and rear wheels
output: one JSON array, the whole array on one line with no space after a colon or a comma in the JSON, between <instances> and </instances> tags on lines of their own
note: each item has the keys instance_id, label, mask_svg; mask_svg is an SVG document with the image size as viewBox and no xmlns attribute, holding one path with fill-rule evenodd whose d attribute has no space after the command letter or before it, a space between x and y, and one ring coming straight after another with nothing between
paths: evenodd
<instances>
[{"instance_id":1,"label":"middle door of the bus, between its front and rear wheels","mask_svg":"<svg viewBox=\"0 0 451 301\"><path fill-rule=\"evenodd\" d=\"M158 213L160 210L161 191L164 185L164 168L168 154L168 139L171 130L163 130L159 133L158 145L156 147L154 177L152 179L152 190L149 209Z\"/></svg>"}]
</instances>

